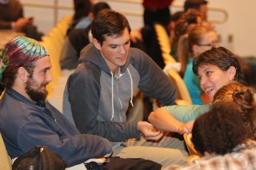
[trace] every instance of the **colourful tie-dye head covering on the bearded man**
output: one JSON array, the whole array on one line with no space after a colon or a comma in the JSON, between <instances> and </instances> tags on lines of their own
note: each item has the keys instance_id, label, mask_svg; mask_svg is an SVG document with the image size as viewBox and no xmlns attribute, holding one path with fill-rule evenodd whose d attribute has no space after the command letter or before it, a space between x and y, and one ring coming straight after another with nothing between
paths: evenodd
<instances>
[{"instance_id":1,"label":"colourful tie-dye head covering on the bearded man","mask_svg":"<svg viewBox=\"0 0 256 170\"><path fill-rule=\"evenodd\" d=\"M0 81L7 66L22 66L46 56L48 51L34 39L18 36L10 40L0 49Z\"/></svg>"}]
</instances>

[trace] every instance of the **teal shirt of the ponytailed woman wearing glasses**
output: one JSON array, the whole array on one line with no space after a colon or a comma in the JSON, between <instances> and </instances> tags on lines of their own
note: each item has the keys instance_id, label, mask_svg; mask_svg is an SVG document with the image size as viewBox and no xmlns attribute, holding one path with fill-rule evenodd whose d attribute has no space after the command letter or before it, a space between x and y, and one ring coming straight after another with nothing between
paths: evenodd
<instances>
[{"instance_id":1,"label":"teal shirt of the ponytailed woman wearing glasses","mask_svg":"<svg viewBox=\"0 0 256 170\"><path fill-rule=\"evenodd\" d=\"M186 88L190 93L190 97L193 105L204 105L201 94L202 89L200 87L200 80L197 75L193 73L193 58L189 58L189 63L186 66L186 71L184 73L183 81L186 84Z\"/></svg>"}]
</instances>

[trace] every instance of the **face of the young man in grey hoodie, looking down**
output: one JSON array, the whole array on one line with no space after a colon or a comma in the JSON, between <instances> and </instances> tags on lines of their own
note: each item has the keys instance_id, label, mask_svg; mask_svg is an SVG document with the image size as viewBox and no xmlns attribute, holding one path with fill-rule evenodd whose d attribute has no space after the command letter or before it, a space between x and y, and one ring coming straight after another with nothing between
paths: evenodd
<instances>
[{"instance_id":1,"label":"face of the young man in grey hoodie, looking down","mask_svg":"<svg viewBox=\"0 0 256 170\"><path fill-rule=\"evenodd\" d=\"M118 67L126 64L127 55L130 50L130 34L126 28L118 38L106 37L106 40L100 43L94 39L95 47L102 53L102 57L106 61L112 73Z\"/></svg>"}]
</instances>

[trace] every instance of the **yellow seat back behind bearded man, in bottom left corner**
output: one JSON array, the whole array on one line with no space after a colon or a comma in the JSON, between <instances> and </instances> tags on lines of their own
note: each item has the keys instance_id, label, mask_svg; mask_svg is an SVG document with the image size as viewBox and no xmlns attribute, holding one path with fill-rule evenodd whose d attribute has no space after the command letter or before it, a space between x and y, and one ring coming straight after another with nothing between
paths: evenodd
<instances>
[{"instance_id":1,"label":"yellow seat back behind bearded man, in bottom left corner","mask_svg":"<svg viewBox=\"0 0 256 170\"><path fill-rule=\"evenodd\" d=\"M6 151L6 145L2 140L0 133L0 169L11 170L11 160Z\"/></svg>"}]
</instances>

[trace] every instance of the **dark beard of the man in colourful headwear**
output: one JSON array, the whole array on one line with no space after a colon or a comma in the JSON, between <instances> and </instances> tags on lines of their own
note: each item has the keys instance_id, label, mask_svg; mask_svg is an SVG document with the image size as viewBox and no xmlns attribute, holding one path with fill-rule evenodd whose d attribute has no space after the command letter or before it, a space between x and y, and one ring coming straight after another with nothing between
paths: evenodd
<instances>
[{"instance_id":1,"label":"dark beard of the man in colourful headwear","mask_svg":"<svg viewBox=\"0 0 256 170\"><path fill-rule=\"evenodd\" d=\"M26 93L30 96L32 101L44 101L46 100L48 92L47 90L39 91L39 89L47 84L48 83L44 83L41 84L39 87L34 87L36 85L36 82L33 78L29 78L28 81L26 81Z\"/></svg>"}]
</instances>

